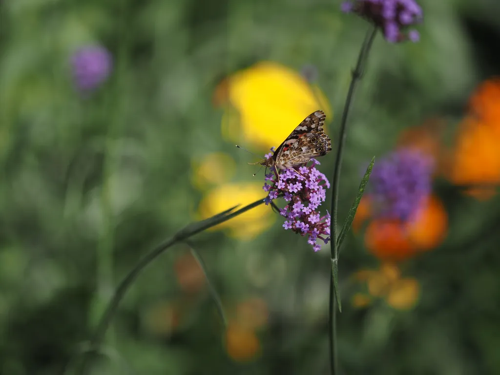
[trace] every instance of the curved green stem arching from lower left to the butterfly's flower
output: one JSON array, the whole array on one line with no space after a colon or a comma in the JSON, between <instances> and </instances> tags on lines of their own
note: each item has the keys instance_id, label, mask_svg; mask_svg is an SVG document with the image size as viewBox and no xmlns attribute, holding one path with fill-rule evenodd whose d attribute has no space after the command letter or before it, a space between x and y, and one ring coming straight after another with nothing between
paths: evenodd
<instances>
[{"instance_id":1,"label":"curved green stem arching from lower left to the butterfly's flower","mask_svg":"<svg viewBox=\"0 0 500 375\"><path fill-rule=\"evenodd\" d=\"M89 340L90 350L82 355L81 361L78 363L76 367L76 374L85 374L88 371L88 361L90 356L98 350L104 335L106 333L111 320L118 309L118 305L121 302L121 299L125 295L125 292L128 290L129 286L138 276L138 274L148 265L152 260L154 260L158 255L164 252L166 249L171 247L172 245L183 242L187 238L192 237L194 234L197 234L205 229L208 229L212 226L220 224L221 222L227 221L241 213L248 211L264 202L264 199L259 199L250 203L243 208L238 209L237 211L231 212L235 207L230 208L224 212L218 213L208 219L198 221L192 224L187 225L186 227L179 230L175 233L170 239L160 243L156 247L154 247L149 253L147 253L139 262L133 267L130 272L120 281L118 287L116 288L111 300L107 304L107 307L102 314L97 327L95 328L94 334Z\"/></svg>"}]
</instances>

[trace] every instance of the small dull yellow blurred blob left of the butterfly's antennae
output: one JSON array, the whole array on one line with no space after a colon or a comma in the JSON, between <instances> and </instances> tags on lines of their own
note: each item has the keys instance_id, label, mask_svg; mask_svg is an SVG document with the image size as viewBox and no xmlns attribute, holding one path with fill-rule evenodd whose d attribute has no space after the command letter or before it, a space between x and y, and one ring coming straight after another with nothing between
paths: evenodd
<instances>
[{"instance_id":1,"label":"small dull yellow blurred blob left of the butterfly's antennae","mask_svg":"<svg viewBox=\"0 0 500 375\"><path fill-rule=\"evenodd\" d=\"M228 181L234 174L234 159L224 152L204 155L201 160L192 160L192 182L198 189Z\"/></svg>"}]
</instances>

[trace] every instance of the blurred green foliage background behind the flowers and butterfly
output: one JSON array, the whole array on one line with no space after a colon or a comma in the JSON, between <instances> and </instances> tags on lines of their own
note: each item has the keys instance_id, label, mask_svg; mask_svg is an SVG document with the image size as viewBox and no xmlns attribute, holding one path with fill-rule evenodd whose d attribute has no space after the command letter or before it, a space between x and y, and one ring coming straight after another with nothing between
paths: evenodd
<instances>
[{"instance_id":1,"label":"blurred green foliage background behind the flowers and butterfly","mask_svg":"<svg viewBox=\"0 0 500 375\"><path fill-rule=\"evenodd\" d=\"M372 155L429 117L445 119L453 133L471 91L498 73L497 0L419 2L420 42L375 40L349 122L340 219ZM221 135L223 109L212 97L224 77L262 60L297 72L313 65L336 142L367 29L339 5L0 1L2 375L62 373L119 280L148 249L198 218L206 191L192 182L193 163L225 152L235 160L233 182L261 184L246 164L254 157ZM82 95L70 57L86 44L105 46L113 69ZM328 176L333 159L332 152L321 160ZM412 308L383 299L350 303L358 288L351 275L378 260L360 234L349 234L339 262L342 373L500 373L498 198L475 200L439 178L435 192L449 227L440 246L401 264L419 285ZM259 187L256 194L264 196ZM224 332L189 248L178 245L128 290L92 373L328 373L329 251L313 253L281 223L276 218L251 239L226 231L193 238L235 321L232 331ZM241 319L251 328L238 328Z\"/></svg>"}]
</instances>

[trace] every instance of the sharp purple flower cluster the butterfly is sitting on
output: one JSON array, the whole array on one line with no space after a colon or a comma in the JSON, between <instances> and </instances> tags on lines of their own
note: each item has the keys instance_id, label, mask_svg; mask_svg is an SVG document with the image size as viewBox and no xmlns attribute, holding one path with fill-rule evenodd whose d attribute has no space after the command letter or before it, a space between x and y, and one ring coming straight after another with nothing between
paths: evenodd
<instances>
[{"instance_id":1,"label":"sharp purple flower cluster the butterfly is sitting on","mask_svg":"<svg viewBox=\"0 0 500 375\"><path fill-rule=\"evenodd\" d=\"M272 153L265 155L266 158L271 156ZM315 168L319 162L315 159L311 161L313 164L310 166L282 171L279 179L273 172L266 174L263 189L268 191L265 204L278 197L288 202L279 210L286 218L283 227L302 236L307 235L307 242L314 251L318 251L321 246L316 243L316 239L321 239L325 244L330 240L330 214L326 212L326 215L321 216L317 211L321 202L324 202L325 187L330 187L330 183Z\"/></svg>"}]
</instances>

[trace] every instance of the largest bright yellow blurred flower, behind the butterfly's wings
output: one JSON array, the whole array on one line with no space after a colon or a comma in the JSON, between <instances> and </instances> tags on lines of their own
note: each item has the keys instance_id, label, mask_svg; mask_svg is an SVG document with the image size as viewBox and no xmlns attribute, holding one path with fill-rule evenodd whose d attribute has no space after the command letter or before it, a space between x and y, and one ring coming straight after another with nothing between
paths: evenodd
<instances>
[{"instance_id":1,"label":"largest bright yellow blurred flower, behind the butterfly's wings","mask_svg":"<svg viewBox=\"0 0 500 375\"><path fill-rule=\"evenodd\" d=\"M228 102L222 135L233 141L277 147L307 115L317 109L331 120L331 108L317 86L298 72L262 61L234 73L215 90L214 102Z\"/></svg>"}]
</instances>

